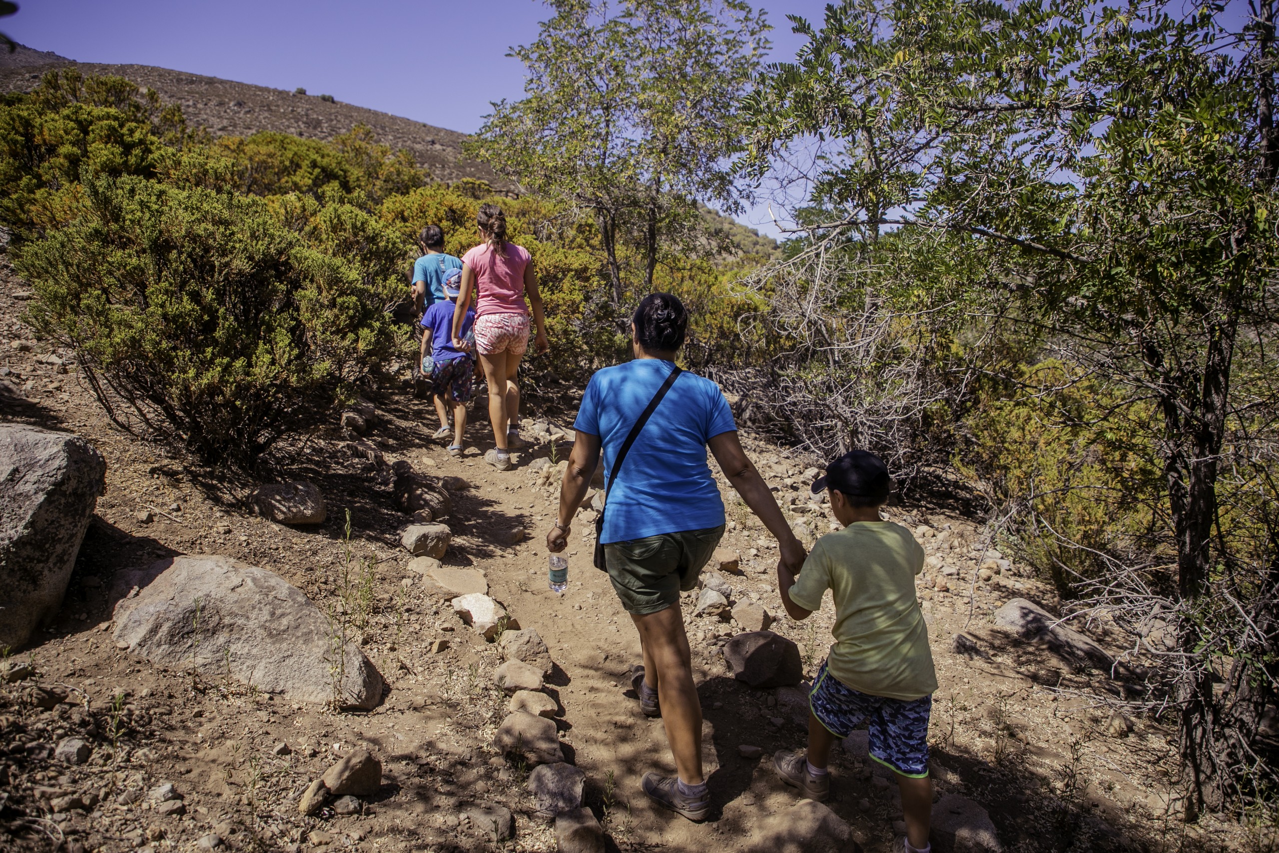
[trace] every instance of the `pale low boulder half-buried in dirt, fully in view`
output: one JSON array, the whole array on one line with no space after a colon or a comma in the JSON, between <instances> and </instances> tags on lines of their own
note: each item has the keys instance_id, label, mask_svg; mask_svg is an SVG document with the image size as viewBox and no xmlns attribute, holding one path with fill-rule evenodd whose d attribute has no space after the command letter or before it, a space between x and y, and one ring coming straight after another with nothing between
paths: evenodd
<instances>
[{"instance_id":1,"label":"pale low boulder half-buried in dirt, fully in view","mask_svg":"<svg viewBox=\"0 0 1279 853\"><path fill-rule=\"evenodd\" d=\"M177 556L118 572L115 645L206 678L230 675L267 693L372 708L382 677L301 590L229 556Z\"/></svg>"}]
</instances>

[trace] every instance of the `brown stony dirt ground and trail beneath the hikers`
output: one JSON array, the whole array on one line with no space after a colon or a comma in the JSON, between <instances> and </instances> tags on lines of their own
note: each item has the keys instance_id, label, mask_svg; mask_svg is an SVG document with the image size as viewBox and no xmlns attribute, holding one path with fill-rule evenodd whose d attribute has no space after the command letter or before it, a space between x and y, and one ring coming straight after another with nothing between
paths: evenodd
<instances>
[{"instance_id":1,"label":"brown stony dirt ground and trail beneath the hikers","mask_svg":"<svg viewBox=\"0 0 1279 853\"><path fill-rule=\"evenodd\" d=\"M78 381L70 354L36 341L22 324L26 298L22 283L0 270L4 416L91 437L107 459L109 491L61 618L19 652L35 674L0 684L0 849L160 853L194 849L210 833L231 849L293 853L554 849L551 830L533 816L524 769L491 747L508 703L492 683L500 662L495 646L431 599L408 569L412 558L398 540L408 519L390 487L389 466L398 459L421 473L469 482L455 494L448 520L455 538L444 561L483 570L490 595L550 647L556 669L546 689L560 705L565 752L587 774L587 804L608 830L610 849L752 849L769 821L794 802L773 778L769 756L802 746L802 691L752 691L734 682L720 648L735 628L692 616L691 599L683 607L706 715L712 820L693 825L640 793L645 771L671 765L661 723L640 714L625 680L638 661L636 632L606 577L591 567L585 518L570 536L568 592L547 590L544 536L558 483L544 482L531 466L550 445L526 450L505 473L483 464L478 454L491 446L483 398L472 404L475 449L463 459L431 442L434 413L407 387L375 400L382 422L368 436L334 426L299 442L281 457L288 463L276 478L316 482L330 518L316 528L286 528L248 514L255 483L168 458L111 427ZM26 402L15 402L14 393ZM568 426L572 389L560 399L564 408L549 414ZM826 532L829 519L806 497L802 472L812 460L749 439L746 446L793 522ZM726 578L734 596L755 599L778 616L773 629L801 645L811 677L829 643L829 601L807 623L780 615L775 549L723 481L721 489L730 519L723 545L742 558L743 574ZM151 520L143 520L147 514ZM889 515L912 526L930 555L920 595L941 684L930 734L939 792L989 810L1005 849L1164 849L1170 733L1136 720L1131 734L1114 737L1109 710L1087 700L1094 688L1119 693L1114 683L991 624L994 609L1014 596L1056 604L1016 563L1004 575L975 581L967 634L977 648L957 653L953 637L969 622L968 579L986 559L977 526L936 506L899 506ZM498 535L517 524L528 536L500 545ZM385 675L384 702L370 714L331 714L230 679L157 669L115 648L105 630L111 575L179 552L226 554L270 569L335 613L362 636ZM33 703L37 685L61 685L70 701L42 710ZM92 758L79 767L54 765L41 744L70 734L91 742ZM899 820L895 789L856 743L836 749L830 806L865 849L886 850ZM761 747L764 757L742 758L742 744ZM359 815L298 815L297 798L310 780L354 746L381 758L380 794ZM145 795L165 781L183 797L184 813L161 816ZM79 804L68 806L67 797L79 797ZM515 812L514 840L495 845L468 825L462 816L477 804ZM1225 839L1223 833L1241 838L1243 830L1230 826L1205 818L1196 827L1175 826L1175 834L1178 843Z\"/></svg>"}]
</instances>

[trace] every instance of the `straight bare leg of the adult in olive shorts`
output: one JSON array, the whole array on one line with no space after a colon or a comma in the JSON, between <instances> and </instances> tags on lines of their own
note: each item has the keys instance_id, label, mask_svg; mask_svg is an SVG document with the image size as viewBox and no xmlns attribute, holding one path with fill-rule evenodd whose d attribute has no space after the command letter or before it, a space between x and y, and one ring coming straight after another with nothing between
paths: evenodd
<instances>
[{"instance_id":1,"label":"straight bare leg of the adult in olive shorts","mask_svg":"<svg viewBox=\"0 0 1279 853\"><path fill-rule=\"evenodd\" d=\"M700 785L702 778L702 703L693 684L692 652L679 605L643 616L632 614L643 646L645 682L656 675L661 723L675 758L679 780Z\"/></svg>"}]
</instances>

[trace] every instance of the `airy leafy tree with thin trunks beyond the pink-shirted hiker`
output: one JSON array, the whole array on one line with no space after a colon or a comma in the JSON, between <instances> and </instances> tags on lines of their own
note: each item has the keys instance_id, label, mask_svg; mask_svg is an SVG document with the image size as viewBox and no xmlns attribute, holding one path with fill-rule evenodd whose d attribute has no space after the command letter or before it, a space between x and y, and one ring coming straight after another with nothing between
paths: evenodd
<instances>
[{"instance_id":1,"label":"airy leafy tree with thin trunks beyond the pink-shirted hiker","mask_svg":"<svg viewBox=\"0 0 1279 853\"><path fill-rule=\"evenodd\" d=\"M663 253L696 248L696 200L735 210L737 100L767 47L742 0L554 0L513 52L526 97L494 104L468 151L530 192L595 219L614 304L625 246L650 289Z\"/></svg>"}]
</instances>

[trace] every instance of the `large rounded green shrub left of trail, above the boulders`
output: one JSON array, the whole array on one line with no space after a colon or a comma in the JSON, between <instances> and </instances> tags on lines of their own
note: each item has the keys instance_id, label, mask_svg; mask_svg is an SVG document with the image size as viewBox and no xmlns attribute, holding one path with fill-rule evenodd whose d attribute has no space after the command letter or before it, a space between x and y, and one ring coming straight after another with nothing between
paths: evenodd
<instances>
[{"instance_id":1,"label":"large rounded green shrub left of trail, above the boulders","mask_svg":"<svg viewBox=\"0 0 1279 853\"><path fill-rule=\"evenodd\" d=\"M249 466L390 356L389 253L331 252L393 235L350 207L312 212L299 233L260 198L93 178L15 266L32 322L74 348L118 425Z\"/></svg>"}]
</instances>

